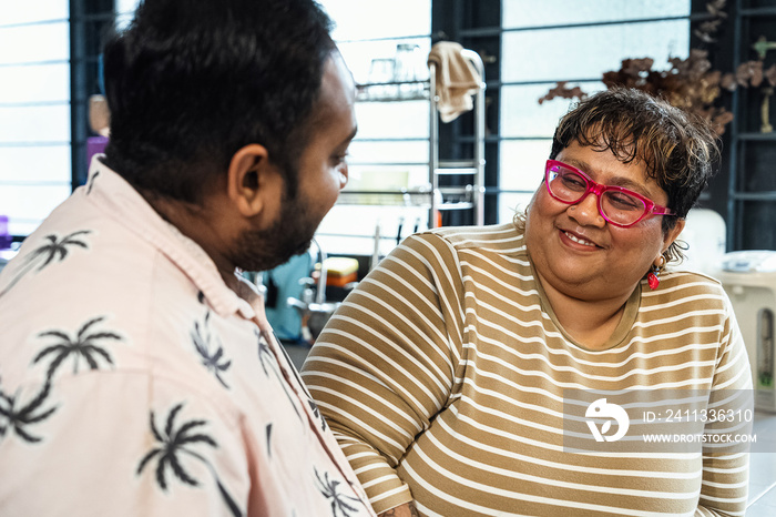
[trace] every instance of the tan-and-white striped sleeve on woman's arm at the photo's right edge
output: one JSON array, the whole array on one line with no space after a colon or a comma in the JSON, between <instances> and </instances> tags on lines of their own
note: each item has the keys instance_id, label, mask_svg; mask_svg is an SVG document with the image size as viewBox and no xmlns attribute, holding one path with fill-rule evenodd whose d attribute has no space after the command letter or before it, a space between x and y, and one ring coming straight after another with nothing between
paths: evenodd
<instances>
[{"instance_id":1,"label":"tan-and-white striped sleeve on woman's arm at the photo's right edge","mask_svg":"<svg viewBox=\"0 0 776 517\"><path fill-rule=\"evenodd\" d=\"M719 434L722 430L722 434L733 439L745 440L752 435L752 371L738 323L724 292L723 300L727 316L721 332L721 354L711 398L713 404L725 408L725 413L733 418L727 423L709 422L705 430L706 435ZM719 452L712 452L712 446L704 447L703 485L695 515L743 516L746 511L751 454L748 444L743 442L736 446L723 447Z\"/></svg>"}]
</instances>

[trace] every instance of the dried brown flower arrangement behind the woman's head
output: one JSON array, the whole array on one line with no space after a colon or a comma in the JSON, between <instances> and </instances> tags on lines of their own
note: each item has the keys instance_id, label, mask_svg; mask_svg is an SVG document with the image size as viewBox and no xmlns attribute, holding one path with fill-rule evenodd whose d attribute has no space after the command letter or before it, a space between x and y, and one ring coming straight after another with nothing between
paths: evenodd
<instances>
[{"instance_id":1,"label":"dried brown flower arrangement behind the woman's head","mask_svg":"<svg viewBox=\"0 0 776 517\"><path fill-rule=\"evenodd\" d=\"M712 0L706 9L712 19L704 21L694 31L701 41L714 42L714 33L719 28L722 20L727 14L722 10L725 0ZM653 95L666 99L671 104L709 120L717 134L725 132L725 124L733 120L733 113L723 107L715 105L722 94L722 90L734 91L737 87L758 88L766 82L764 89L764 119L763 131L772 131L767 122L767 101L776 85L776 64L763 70L765 58L765 39L760 39L753 45L758 51L760 60L742 63L735 73L722 73L712 70L708 52L700 49L691 49L686 59L672 58L666 70L653 70L654 60L651 58L625 59L620 70L605 72L602 82L606 88L627 87L646 91ZM569 88L566 82L559 82L544 97L539 99L541 104L554 98L583 99L586 93L580 87ZM768 90L769 89L769 90Z\"/></svg>"}]
</instances>

